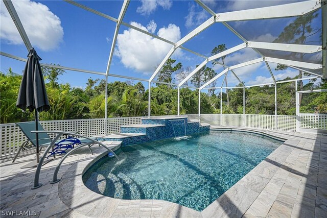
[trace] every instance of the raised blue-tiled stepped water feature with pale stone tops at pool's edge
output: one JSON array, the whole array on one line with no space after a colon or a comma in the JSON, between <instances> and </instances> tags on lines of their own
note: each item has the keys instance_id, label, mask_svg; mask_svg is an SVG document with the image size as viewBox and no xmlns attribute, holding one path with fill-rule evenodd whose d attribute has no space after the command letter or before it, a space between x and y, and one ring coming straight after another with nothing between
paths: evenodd
<instances>
[{"instance_id":1,"label":"raised blue-tiled stepped water feature with pale stone tops at pool's edge","mask_svg":"<svg viewBox=\"0 0 327 218\"><path fill-rule=\"evenodd\" d=\"M98 135L96 138L99 141L122 141L122 146L126 146L206 132L209 127L209 124L200 124L199 120L187 117L142 118L141 124L124 125L120 133Z\"/></svg>"}]
</instances>

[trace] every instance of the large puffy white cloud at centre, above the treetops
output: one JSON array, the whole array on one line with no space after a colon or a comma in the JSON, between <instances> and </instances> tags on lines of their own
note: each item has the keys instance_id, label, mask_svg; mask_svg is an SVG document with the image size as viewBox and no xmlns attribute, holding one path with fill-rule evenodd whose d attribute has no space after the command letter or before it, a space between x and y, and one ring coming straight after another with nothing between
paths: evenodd
<instances>
[{"instance_id":1,"label":"large puffy white cloud at centre, above the treetops","mask_svg":"<svg viewBox=\"0 0 327 218\"><path fill-rule=\"evenodd\" d=\"M131 25L149 31L140 23L131 22ZM148 28L153 30L154 21L150 21ZM157 35L170 41L177 42L180 37L180 30L174 24L160 28ZM125 30L118 34L117 49L115 55L121 59L125 67L129 67L145 74L153 72L156 66L167 55L172 45L155 39L133 29Z\"/></svg>"}]
</instances>

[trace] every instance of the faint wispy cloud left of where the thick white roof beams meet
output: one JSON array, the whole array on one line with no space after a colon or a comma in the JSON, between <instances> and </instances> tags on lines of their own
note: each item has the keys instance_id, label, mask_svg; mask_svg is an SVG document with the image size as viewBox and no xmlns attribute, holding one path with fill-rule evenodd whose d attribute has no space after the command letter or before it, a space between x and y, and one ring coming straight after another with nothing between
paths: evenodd
<instances>
[{"instance_id":1,"label":"faint wispy cloud left of where the thick white roof beams meet","mask_svg":"<svg viewBox=\"0 0 327 218\"><path fill-rule=\"evenodd\" d=\"M189 14L185 17L185 27L192 28L201 25L207 18L208 13L195 4L189 4Z\"/></svg>"}]
</instances>

